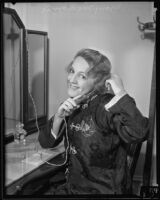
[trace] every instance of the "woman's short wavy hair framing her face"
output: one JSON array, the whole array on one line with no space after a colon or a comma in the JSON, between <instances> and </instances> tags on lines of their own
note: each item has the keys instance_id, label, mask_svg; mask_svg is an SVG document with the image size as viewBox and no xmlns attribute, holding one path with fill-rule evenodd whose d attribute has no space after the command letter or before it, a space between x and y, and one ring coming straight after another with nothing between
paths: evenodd
<instances>
[{"instance_id":1,"label":"woman's short wavy hair framing her face","mask_svg":"<svg viewBox=\"0 0 160 200\"><path fill-rule=\"evenodd\" d=\"M106 93L107 89L105 87L105 81L111 77L110 60L98 50L89 48L81 49L74 56L73 61L68 65L67 72L70 71L70 67L77 57L84 58L89 64L90 69L87 75L95 79L94 89L100 93Z\"/></svg>"}]
</instances>

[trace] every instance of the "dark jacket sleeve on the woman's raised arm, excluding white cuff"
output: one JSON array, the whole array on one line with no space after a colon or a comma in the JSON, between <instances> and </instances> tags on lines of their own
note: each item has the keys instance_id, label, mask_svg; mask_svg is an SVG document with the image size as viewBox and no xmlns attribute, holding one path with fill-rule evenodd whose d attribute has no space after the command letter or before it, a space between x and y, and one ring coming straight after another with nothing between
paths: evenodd
<instances>
[{"instance_id":1,"label":"dark jacket sleeve on the woman's raised arm, excluding white cuff","mask_svg":"<svg viewBox=\"0 0 160 200\"><path fill-rule=\"evenodd\" d=\"M128 94L109 109L105 109L103 99L96 111L96 121L100 128L116 132L126 143L144 141L149 132L149 120L136 107Z\"/></svg>"}]
</instances>

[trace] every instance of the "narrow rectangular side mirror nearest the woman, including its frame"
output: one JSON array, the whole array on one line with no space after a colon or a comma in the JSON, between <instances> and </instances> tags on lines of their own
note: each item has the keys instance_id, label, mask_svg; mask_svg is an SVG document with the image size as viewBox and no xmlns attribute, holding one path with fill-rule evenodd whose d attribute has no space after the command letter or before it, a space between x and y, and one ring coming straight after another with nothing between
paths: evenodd
<instances>
[{"instance_id":1,"label":"narrow rectangular side mirror nearest the woman, including its frame","mask_svg":"<svg viewBox=\"0 0 160 200\"><path fill-rule=\"evenodd\" d=\"M48 36L47 32L27 30L28 98L26 99L26 129L36 131L47 121Z\"/></svg>"}]
</instances>

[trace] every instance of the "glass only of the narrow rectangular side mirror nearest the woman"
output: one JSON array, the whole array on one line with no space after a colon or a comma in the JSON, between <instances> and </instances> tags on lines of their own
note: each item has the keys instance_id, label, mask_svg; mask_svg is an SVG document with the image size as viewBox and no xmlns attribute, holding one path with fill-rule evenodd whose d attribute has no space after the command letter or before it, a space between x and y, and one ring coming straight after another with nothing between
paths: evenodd
<instances>
[{"instance_id":1,"label":"glass only of the narrow rectangular side mirror nearest the woman","mask_svg":"<svg viewBox=\"0 0 160 200\"><path fill-rule=\"evenodd\" d=\"M45 114L44 36L28 31L29 120Z\"/></svg>"}]
</instances>

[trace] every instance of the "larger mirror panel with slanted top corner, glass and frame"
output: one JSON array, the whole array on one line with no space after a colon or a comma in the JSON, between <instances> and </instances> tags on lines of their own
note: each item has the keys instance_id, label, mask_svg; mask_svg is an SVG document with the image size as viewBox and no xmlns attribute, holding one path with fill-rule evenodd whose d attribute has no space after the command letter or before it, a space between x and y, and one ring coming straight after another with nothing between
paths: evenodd
<instances>
[{"instance_id":1,"label":"larger mirror panel with slanted top corner, glass and frame","mask_svg":"<svg viewBox=\"0 0 160 200\"><path fill-rule=\"evenodd\" d=\"M13 138L18 122L23 117L23 69L25 68L25 28L15 10L5 8L3 13L4 63L4 124L5 136ZM24 48L23 48L24 47Z\"/></svg>"}]
</instances>

